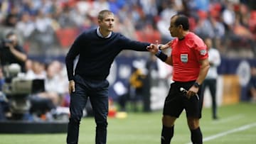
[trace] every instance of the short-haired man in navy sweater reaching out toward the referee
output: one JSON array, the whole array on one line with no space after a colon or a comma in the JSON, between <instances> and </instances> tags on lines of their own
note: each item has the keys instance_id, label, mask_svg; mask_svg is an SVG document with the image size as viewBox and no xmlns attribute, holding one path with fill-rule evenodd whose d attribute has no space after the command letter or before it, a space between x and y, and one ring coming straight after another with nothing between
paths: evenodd
<instances>
[{"instance_id":1,"label":"short-haired man in navy sweater reaching out toward the referee","mask_svg":"<svg viewBox=\"0 0 256 144\"><path fill-rule=\"evenodd\" d=\"M81 33L65 57L70 92L70 119L67 143L78 143L82 110L90 97L96 123L96 144L107 141L108 86L110 66L122 50L147 51L150 43L129 40L114 33L114 14L103 10L98 15L99 27ZM74 60L79 55L74 70Z\"/></svg>"}]
</instances>

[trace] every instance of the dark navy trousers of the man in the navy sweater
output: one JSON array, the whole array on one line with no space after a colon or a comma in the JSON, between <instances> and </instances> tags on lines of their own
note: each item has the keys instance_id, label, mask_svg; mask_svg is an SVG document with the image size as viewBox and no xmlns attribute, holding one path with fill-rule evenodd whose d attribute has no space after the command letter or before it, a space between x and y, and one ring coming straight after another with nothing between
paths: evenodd
<instances>
[{"instance_id":1,"label":"dark navy trousers of the man in the navy sweater","mask_svg":"<svg viewBox=\"0 0 256 144\"><path fill-rule=\"evenodd\" d=\"M70 121L68 123L68 144L77 144L82 110L85 109L87 98L90 98L96 122L96 144L107 141L107 113L108 113L107 80L85 80L75 76L75 92L70 94Z\"/></svg>"}]
</instances>

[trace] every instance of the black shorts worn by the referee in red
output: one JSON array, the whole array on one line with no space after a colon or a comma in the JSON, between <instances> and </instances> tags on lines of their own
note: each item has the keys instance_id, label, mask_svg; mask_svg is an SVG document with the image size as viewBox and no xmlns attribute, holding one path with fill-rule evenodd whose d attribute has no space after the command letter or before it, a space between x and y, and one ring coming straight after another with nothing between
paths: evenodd
<instances>
[{"instance_id":1,"label":"black shorts worn by the referee in red","mask_svg":"<svg viewBox=\"0 0 256 144\"><path fill-rule=\"evenodd\" d=\"M197 96L191 96L191 98L188 99L185 94L180 92L181 87L188 90L193 86L194 82L195 81L174 82L171 84L169 94L166 96L164 101L164 115L178 118L183 109L185 109L187 117L201 118L203 107L203 94L201 94L201 87L198 91L199 100Z\"/></svg>"}]
</instances>

